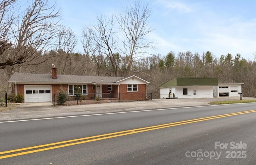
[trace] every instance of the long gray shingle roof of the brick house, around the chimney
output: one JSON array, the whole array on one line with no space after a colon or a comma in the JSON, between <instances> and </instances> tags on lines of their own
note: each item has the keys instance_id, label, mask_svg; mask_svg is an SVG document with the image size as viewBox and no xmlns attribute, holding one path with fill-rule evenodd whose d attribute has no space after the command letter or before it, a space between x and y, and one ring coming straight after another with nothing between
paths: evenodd
<instances>
[{"instance_id":1,"label":"long gray shingle roof of the brick house, around the chimney","mask_svg":"<svg viewBox=\"0 0 256 165\"><path fill-rule=\"evenodd\" d=\"M124 77L104 77L104 76L83 76L83 75L57 75L57 79L52 79L51 74L36 73L14 73L9 82L16 83L116 83Z\"/></svg>"}]
</instances>

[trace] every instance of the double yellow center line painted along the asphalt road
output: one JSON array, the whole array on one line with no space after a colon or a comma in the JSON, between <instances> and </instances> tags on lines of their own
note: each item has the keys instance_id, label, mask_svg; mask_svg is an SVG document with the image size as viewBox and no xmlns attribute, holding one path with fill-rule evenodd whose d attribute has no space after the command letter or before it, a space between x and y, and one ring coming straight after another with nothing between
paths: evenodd
<instances>
[{"instance_id":1,"label":"double yellow center line painted along the asphalt road","mask_svg":"<svg viewBox=\"0 0 256 165\"><path fill-rule=\"evenodd\" d=\"M140 132L158 130L158 129L168 128L168 127L172 127L172 126L179 126L179 125L183 125L183 124L202 122L202 121L206 121L206 120L224 118L224 117L228 117L228 116L247 114L247 113L251 113L251 112L256 112L256 110L249 110L249 111L236 112L236 113L231 113L231 114L223 114L223 115L217 115L217 116L209 116L209 117L205 117L205 118L197 118L197 119L185 120L185 121L181 121L181 122L161 124L161 125L156 125L156 126L137 128L137 129L133 129L133 130L113 132L113 133L109 133L109 134L90 136L90 137L86 137L86 138L72 139L72 140L60 141L60 142L56 142L56 143L49 143L49 144L44 144L44 145L36 145L36 146L32 146L32 147L3 151L3 152L0 152L0 155L7 154L7 153L13 153L13 154L0 156L0 159L14 157L14 156L18 156L18 155L25 155L25 154L35 153L35 152L40 152L40 151L46 151L46 150L56 149L56 148L61 148L61 147L67 147L67 146L76 145L76 144L88 143L88 142L92 142L92 141L115 138L115 137L119 137L119 136L136 134L136 133L140 133ZM64 143L67 143L67 144L64 144ZM54 145L56 145L56 146L54 146ZM49 147L49 146L51 146L51 147ZM43 147L45 147L45 148L43 148ZM41 149L37 149L37 148L41 148ZM32 150L32 149L35 149L35 150ZM31 151L26 151L26 150L31 150ZM14 152L18 152L18 151L24 151L24 152L14 153Z\"/></svg>"}]
</instances>

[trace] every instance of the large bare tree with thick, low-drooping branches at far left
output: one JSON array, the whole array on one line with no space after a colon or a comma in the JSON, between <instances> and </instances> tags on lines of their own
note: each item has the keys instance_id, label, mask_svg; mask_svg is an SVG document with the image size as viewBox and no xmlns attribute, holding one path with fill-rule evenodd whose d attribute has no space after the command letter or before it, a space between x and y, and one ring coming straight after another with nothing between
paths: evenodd
<instances>
[{"instance_id":1,"label":"large bare tree with thick, low-drooping branches at far left","mask_svg":"<svg viewBox=\"0 0 256 165\"><path fill-rule=\"evenodd\" d=\"M12 10L8 12L11 16L13 15ZM2 20L10 19L6 15L2 16ZM0 69L16 64L26 65L40 58L42 53L52 46L53 40L58 36L56 27L59 16L55 4L48 6L47 0L28 1L26 11L21 11L15 18L11 17L11 19L13 18L10 20L12 25L6 32L6 38L12 41L12 49L6 50L2 55ZM34 65L36 64L38 63L34 63Z\"/></svg>"}]
</instances>

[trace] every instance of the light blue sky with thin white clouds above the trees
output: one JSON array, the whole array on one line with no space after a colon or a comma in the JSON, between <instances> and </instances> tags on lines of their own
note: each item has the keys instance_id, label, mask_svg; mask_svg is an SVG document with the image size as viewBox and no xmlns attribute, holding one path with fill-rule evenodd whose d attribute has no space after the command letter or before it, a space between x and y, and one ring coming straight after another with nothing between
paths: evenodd
<instances>
[{"instance_id":1,"label":"light blue sky with thin white clouds above the trees","mask_svg":"<svg viewBox=\"0 0 256 165\"><path fill-rule=\"evenodd\" d=\"M156 42L154 54L169 51L211 51L216 57L237 53L254 60L256 52L255 0L142 1L152 9L149 24L154 31L148 39ZM96 16L111 16L134 1L57 0L62 23L81 34L82 27L96 24ZM76 51L83 52L79 43Z\"/></svg>"}]
</instances>

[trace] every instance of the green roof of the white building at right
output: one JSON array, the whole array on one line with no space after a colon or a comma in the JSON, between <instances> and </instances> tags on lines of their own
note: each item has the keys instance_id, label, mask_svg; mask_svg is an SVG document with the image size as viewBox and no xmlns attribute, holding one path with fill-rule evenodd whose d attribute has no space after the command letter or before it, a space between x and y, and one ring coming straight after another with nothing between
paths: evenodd
<instances>
[{"instance_id":1,"label":"green roof of the white building at right","mask_svg":"<svg viewBox=\"0 0 256 165\"><path fill-rule=\"evenodd\" d=\"M192 78L192 77L176 77L165 84L162 84L159 88L170 86L218 86L218 79L216 78Z\"/></svg>"}]
</instances>

